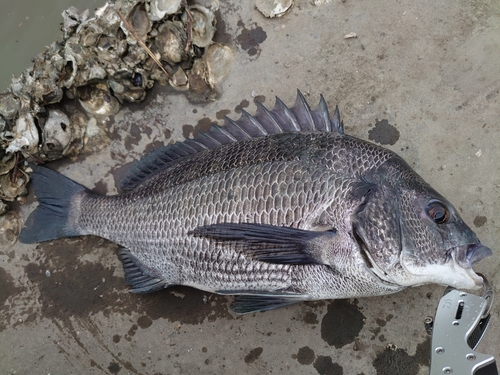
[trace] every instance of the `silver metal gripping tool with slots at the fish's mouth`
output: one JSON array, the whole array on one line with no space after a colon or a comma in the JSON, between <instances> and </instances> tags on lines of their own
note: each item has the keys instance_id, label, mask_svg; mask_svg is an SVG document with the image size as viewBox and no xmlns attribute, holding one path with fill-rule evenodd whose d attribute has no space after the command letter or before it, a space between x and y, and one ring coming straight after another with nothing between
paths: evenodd
<instances>
[{"instance_id":1,"label":"silver metal gripping tool with slots at the fish's mouth","mask_svg":"<svg viewBox=\"0 0 500 375\"><path fill-rule=\"evenodd\" d=\"M492 355L474 351L490 321L493 288L483 276L482 296L451 287L425 326L432 333L430 375L498 375Z\"/></svg>"}]
</instances>

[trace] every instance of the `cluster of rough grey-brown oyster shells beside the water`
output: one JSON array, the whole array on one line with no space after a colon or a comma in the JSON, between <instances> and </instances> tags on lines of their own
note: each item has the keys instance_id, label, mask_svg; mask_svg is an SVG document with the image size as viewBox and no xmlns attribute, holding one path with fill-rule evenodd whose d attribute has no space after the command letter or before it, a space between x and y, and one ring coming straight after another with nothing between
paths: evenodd
<instances>
[{"instance_id":1,"label":"cluster of rough grey-brown oyster shells beside the water","mask_svg":"<svg viewBox=\"0 0 500 375\"><path fill-rule=\"evenodd\" d=\"M155 82L211 99L234 59L212 40L215 10L182 0L119 0L94 17L64 11L62 42L0 93L0 215L5 201L26 194L26 160L78 155L99 133L96 121L104 126L121 106L144 100Z\"/></svg>"}]
</instances>

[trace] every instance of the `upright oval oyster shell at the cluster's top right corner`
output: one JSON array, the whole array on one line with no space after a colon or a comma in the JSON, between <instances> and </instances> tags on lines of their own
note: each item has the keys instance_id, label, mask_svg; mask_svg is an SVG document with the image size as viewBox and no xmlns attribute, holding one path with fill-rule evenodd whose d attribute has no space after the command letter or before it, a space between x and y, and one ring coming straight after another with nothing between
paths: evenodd
<instances>
[{"instance_id":1,"label":"upright oval oyster shell at the cluster's top right corner","mask_svg":"<svg viewBox=\"0 0 500 375\"><path fill-rule=\"evenodd\" d=\"M192 42L195 46L204 48L212 43L215 34L215 14L202 5L191 5L189 7L191 17L193 18L191 26ZM182 22L187 24L187 14L182 14Z\"/></svg>"}]
</instances>

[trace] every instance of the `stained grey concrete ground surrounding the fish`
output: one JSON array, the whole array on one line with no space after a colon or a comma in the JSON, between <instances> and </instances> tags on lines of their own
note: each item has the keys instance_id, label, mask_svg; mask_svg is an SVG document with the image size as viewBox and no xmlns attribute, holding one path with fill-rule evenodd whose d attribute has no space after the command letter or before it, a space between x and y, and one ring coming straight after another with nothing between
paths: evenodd
<instances>
[{"instance_id":1,"label":"stained grey concrete ground surrounding the fish","mask_svg":"<svg viewBox=\"0 0 500 375\"><path fill-rule=\"evenodd\" d=\"M266 19L224 1L218 27L236 60L217 100L155 88L110 119L109 146L52 168L113 194L145 150L252 113L255 97L323 94L346 133L398 152L460 210L493 249L475 269L498 291L500 2L297 0ZM116 251L96 237L1 249L1 374L428 373L423 321L444 287L237 316L231 298L189 288L129 293ZM498 358L499 315L478 347Z\"/></svg>"}]
</instances>

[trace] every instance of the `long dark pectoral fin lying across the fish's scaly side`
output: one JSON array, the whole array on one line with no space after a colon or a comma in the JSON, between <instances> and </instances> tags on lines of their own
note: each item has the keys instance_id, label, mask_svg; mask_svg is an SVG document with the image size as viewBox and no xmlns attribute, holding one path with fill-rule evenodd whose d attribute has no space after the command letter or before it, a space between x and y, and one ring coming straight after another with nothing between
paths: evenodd
<instances>
[{"instance_id":1,"label":"long dark pectoral fin lying across the fish's scaly side","mask_svg":"<svg viewBox=\"0 0 500 375\"><path fill-rule=\"evenodd\" d=\"M336 237L335 230L314 232L253 223L206 225L189 234L217 242L231 242L235 250L256 260L277 264L325 264L325 245Z\"/></svg>"}]
</instances>

